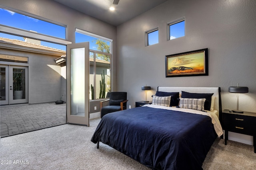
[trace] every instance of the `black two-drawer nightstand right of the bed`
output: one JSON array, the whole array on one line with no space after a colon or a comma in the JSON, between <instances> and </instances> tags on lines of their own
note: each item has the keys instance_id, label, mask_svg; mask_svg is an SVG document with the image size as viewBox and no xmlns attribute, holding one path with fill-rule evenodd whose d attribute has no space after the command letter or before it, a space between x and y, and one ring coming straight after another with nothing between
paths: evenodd
<instances>
[{"instance_id":1,"label":"black two-drawer nightstand right of the bed","mask_svg":"<svg viewBox=\"0 0 256 170\"><path fill-rule=\"evenodd\" d=\"M227 145L228 131L253 136L254 153L256 153L256 113L244 111L234 113L225 109L222 111L223 130L225 130L225 145Z\"/></svg>"}]
</instances>

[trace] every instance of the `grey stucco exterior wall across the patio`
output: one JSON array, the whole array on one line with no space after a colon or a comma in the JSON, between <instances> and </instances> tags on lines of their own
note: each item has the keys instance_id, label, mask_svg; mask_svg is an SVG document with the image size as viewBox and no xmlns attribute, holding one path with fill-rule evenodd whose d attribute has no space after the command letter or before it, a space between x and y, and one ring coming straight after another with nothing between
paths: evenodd
<instances>
[{"instance_id":1,"label":"grey stucco exterior wall across the patio","mask_svg":"<svg viewBox=\"0 0 256 170\"><path fill-rule=\"evenodd\" d=\"M29 84L26 85L29 91L29 104L54 102L60 99L61 67L54 61L60 56L2 48L1 54L28 57Z\"/></svg>"}]
</instances>

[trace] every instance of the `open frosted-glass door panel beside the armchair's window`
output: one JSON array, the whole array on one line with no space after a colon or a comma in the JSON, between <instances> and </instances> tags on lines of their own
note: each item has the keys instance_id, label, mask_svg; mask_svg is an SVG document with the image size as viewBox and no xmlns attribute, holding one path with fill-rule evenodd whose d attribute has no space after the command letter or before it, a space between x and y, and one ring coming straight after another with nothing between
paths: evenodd
<instances>
[{"instance_id":1,"label":"open frosted-glass door panel beside the armchair's window","mask_svg":"<svg viewBox=\"0 0 256 170\"><path fill-rule=\"evenodd\" d=\"M67 123L89 126L89 43L67 45Z\"/></svg>"}]
</instances>

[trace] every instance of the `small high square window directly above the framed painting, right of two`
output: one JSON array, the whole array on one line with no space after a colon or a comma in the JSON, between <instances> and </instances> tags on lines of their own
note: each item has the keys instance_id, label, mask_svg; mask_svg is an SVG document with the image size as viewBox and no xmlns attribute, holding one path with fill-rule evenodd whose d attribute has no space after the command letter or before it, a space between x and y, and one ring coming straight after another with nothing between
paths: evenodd
<instances>
[{"instance_id":1,"label":"small high square window directly above the framed painting, right of two","mask_svg":"<svg viewBox=\"0 0 256 170\"><path fill-rule=\"evenodd\" d=\"M174 21L168 24L169 36L168 40L185 36L185 19Z\"/></svg>"}]
</instances>

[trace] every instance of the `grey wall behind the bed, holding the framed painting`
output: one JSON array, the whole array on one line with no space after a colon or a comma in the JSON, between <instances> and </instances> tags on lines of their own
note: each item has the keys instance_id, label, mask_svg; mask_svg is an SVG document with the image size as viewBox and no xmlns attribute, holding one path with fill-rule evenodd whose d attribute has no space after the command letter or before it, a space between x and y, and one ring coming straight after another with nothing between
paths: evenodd
<instances>
[{"instance_id":1,"label":"grey wall behind the bed, holding the framed painting","mask_svg":"<svg viewBox=\"0 0 256 170\"><path fill-rule=\"evenodd\" d=\"M169 0L119 25L118 90L128 92L128 105L134 107L144 100L141 86L146 84L152 87L148 96L158 86L220 87L222 109L236 109L236 94L228 87L239 83L249 88L240 95L239 109L256 112L255 10L255 0ZM167 23L183 17L185 37L167 41ZM159 43L145 47L145 31L156 27ZM204 48L208 76L165 77L166 55Z\"/></svg>"}]
</instances>

